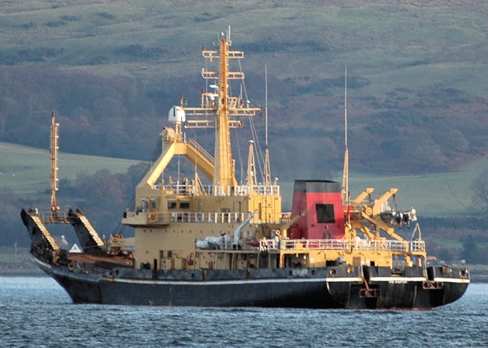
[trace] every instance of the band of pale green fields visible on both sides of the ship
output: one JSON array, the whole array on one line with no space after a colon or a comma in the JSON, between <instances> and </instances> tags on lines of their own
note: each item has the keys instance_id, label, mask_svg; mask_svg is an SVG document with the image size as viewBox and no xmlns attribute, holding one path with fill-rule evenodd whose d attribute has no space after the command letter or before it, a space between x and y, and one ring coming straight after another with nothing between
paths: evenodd
<instances>
[{"instance_id":1,"label":"band of pale green fields visible on both sides of the ship","mask_svg":"<svg viewBox=\"0 0 488 348\"><path fill-rule=\"evenodd\" d=\"M0 188L8 188L26 197L49 189L49 152L37 148L0 142ZM108 168L112 173L124 173L138 161L73 155L59 156L60 180L75 180L77 173L93 174ZM351 196L357 196L366 187L374 187L373 196L391 187L399 189L397 203L400 208L411 206L423 216L464 216L475 214L479 208L471 200L471 182L488 168L488 159L463 168L455 173L422 173L420 175L368 175L352 172ZM306 177L308 179L341 180L341 173L333 177ZM300 177L303 179L305 177ZM284 208L291 207L293 184L281 182ZM60 187L63 190L63 187ZM47 196L46 196L47 197ZM47 198L45 198L47 199Z\"/></svg>"}]
</instances>

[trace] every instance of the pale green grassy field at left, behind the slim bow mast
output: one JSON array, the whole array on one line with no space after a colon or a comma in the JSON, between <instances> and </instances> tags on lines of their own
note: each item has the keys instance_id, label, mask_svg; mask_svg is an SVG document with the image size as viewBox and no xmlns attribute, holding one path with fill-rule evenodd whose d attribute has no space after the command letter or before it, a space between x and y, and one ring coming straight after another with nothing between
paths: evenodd
<instances>
[{"instance_id":1,"label":"pale green grassy field at left, behind the slim bow mast","mask_svg":"<svg viewBox=\"0 0 488 348\"><path fill-rule=\"evenodd\" d=\"M49 150L0 142L0 189L27 195L49 190ZM124 173L138 161L89 155L59 154L59 180L75 180L77 173L101 169ZM62 190L62 187L61 187Z\"/></svg>"}]
</instances>

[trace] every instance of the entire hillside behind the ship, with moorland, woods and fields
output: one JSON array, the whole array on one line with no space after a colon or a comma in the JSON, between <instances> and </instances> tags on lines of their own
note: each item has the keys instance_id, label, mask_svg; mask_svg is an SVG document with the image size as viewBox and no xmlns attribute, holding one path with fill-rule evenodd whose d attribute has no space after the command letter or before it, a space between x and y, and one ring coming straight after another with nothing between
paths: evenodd
<instances>
[{"instance_id":1,"label":"entire hillside behind the ship, with moorland, woods and fields","mask_svg":"<svg viewBox=\"0 0 488 348\"><path fill-rule=\"evenodd\" d=\"M59 204L113 232L144 170L132 165L160 149L180 94L197 106L201 47L230 25L252 106L264 104L268 66L284 209L293 179L340 180L347 65L351 196L397 187L398 207L435 216L423 219L429 253L457 260L472 235L485 255L471 185L488 168L487 18L487 1L0 1L0 245L29 246L21 207L49 208L49 154L39 149L52 111ZM252 137L243 122L236 168ZM254 124L264 139L264 118ZM213 147L211 129L186 132Z\"/></svg>"}]
</instances>

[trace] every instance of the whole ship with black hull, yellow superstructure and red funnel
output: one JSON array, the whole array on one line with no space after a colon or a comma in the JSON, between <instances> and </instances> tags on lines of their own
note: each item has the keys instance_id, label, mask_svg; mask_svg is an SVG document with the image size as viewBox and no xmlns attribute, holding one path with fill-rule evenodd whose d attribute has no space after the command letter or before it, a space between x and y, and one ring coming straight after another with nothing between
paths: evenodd
<instances>
[{"instance_id":1,"label":"whole ship with black hull, yellow superstructure and red funnel","mask_svg":"<svg viewBox=\"0 0 488 348\"><path fill-rule=\"evenodd\" d=\"M134 208L121 212L134 237L105 240L82 210L56 205L59 124L52 114L51 211L20 214L33 262L74 303L424 310L459 299L469 269L429 265L415 209L389 203L397 189L374 196L368 187L351 197L347 132L342 182L295 180L291 212L282 212L280 185L270 175L267 84L264 168L258 177L249 141L238 182L231 129L238 132L263 108L251 106L246 88L231 93L232 81L245 86L244 52L231 46L229 28L213 49L202 47L199 105L181 95L169 110L161 153L135 187ZM187 136L191 128L215 130L213 155ZM189 178L164 175L177 156L195 166ZM53 223L73 226L81 253L60 248L46 227ZM402 237L407 226L413 232Z\"/></svg>"}]
</instances>

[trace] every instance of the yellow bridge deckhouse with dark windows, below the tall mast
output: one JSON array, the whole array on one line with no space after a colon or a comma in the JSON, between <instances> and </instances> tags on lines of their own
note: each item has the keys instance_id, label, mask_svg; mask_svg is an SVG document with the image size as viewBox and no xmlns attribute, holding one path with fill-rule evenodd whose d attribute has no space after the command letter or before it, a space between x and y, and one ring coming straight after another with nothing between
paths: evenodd
<instances>
[{"instance_id":1,"label":"yellow bridge deckhouse with dark windows, below the tall mast","mask_svg":"<svg viewBox=\"0 0 488 348\"><path fill-rule=\"evenodd\" d=\"M280 186L201 185L198 180L155 184L138 191L135 211L124 213L123 224L160 226L169 223L240 223L253 212L252 223L283 223ZM285 215L285 216L284 216Z\"/></svg>"}]
</instances>

